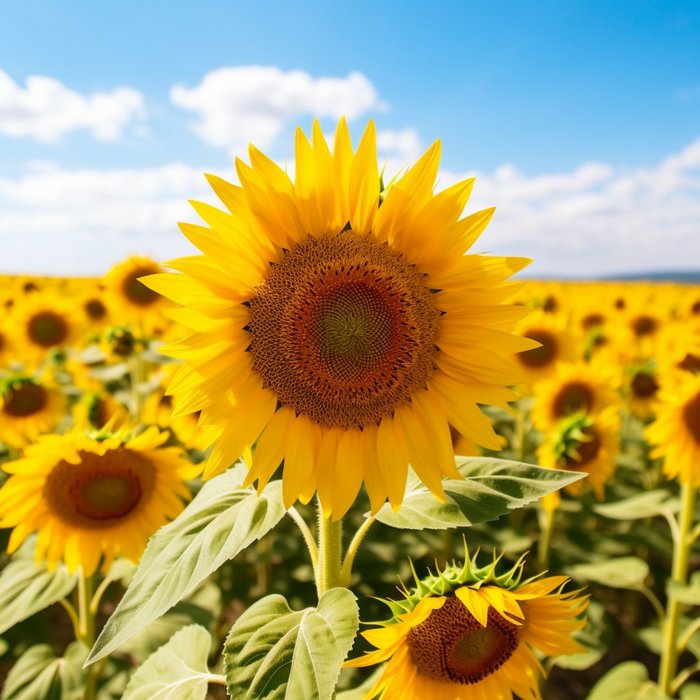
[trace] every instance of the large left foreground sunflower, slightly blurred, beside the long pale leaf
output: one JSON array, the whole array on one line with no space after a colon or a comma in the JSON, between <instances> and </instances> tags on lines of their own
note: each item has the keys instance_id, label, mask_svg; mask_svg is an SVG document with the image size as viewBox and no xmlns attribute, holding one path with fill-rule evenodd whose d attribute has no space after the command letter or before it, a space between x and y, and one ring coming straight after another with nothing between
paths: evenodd
<instances>
[{"instance_id":1,"label":"large left foreground sunflower, slightly blurred, beside the long pale leaf","mask_svg":"<svg viewBox=\"0 0 700 700\"><path fill-rule=\"evenodd\" d=\"M185 480L199 472L177 448L161 448L168 433L44 435L24 457L3 465L0 527L12 527L8 551L38 532L37 562L64 561L94 573L117 554L138 561L148 538L189 500Z\"/></svg>"}]
</instances>

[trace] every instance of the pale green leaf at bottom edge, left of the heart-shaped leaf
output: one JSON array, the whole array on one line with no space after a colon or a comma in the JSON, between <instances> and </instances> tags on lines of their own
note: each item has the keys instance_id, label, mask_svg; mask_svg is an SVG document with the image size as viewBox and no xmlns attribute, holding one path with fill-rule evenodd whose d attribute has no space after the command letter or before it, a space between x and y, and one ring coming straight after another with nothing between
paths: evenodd
<instances>
[{"instance_id":1,"label":"pale green leaf at bottom edge, left of the heart-shaped leaf","mask_svg":"<svg viewBox=\"0 0 700 700\"><path fill-rule=\"evenodd\" d=\"M205 700L210 649L204 627L181 629L136 671L122 700Z\"/></svg>"}]
</instances>

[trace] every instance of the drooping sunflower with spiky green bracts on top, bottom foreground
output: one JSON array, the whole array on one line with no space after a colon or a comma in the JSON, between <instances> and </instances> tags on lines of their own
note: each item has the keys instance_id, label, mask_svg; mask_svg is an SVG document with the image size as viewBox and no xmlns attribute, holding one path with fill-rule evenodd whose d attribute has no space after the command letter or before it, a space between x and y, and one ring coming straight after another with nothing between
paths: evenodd
<instances>
[{"instance_id":1,"label":"drooping sunflower with spiky green bracts on top, bottom foreground","mask_svg":"<svg viewBox=\"0 0 700 700\"><path fill-rule=\"evenodd\" d=\"M572 638L585 625L578 591L564 593L565 576L520 584L522 563L505 576L495 566L448 567L417 581L394 617L363 636L377 648L346 667L388 662L365 700L541 700L546 656L585 652Z\"/></svg>"}]
</instances>

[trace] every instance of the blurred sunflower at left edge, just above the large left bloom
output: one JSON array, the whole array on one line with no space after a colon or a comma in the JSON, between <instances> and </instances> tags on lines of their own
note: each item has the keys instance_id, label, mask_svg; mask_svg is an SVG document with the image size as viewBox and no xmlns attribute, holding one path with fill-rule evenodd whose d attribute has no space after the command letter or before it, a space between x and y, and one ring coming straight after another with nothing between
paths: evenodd
<instances>
[{"instance_id":1,"label":"blurred sunflower at left edge, just above the large left bloom","mask_svg":"<svg viewBox=\"0 0 700 700\"><path fill-rule=\"evenodd\" d=\"M53 388L26 375L0 380L0 440L13 447L34 442L56 428L66 401Z\"/></svg>"}]
</instances>

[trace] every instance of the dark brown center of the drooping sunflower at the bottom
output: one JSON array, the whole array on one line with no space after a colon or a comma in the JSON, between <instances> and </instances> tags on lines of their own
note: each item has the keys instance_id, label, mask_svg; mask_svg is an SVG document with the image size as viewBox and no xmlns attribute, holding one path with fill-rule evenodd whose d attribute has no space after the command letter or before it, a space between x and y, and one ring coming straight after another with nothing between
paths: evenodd
<instances>
[{"instance_id":1,"label":"dark brown center of the drooping sunflower at the bottom","mask_svg":"<svg viewBox=\"0 0 700 700\"><path fill-rule=\"evenodd\" d=\"M520 627L493 608L483 627L457 598L447 598L439 610L407 636L418 672L435 681L478 683L495 673L518 648Z\"/></svg>"}]
</instances>

